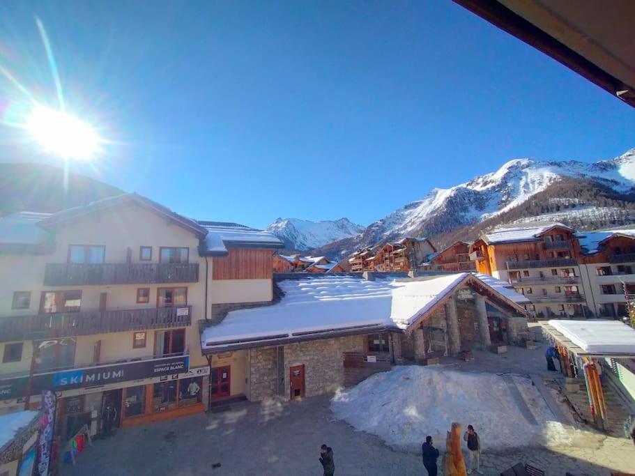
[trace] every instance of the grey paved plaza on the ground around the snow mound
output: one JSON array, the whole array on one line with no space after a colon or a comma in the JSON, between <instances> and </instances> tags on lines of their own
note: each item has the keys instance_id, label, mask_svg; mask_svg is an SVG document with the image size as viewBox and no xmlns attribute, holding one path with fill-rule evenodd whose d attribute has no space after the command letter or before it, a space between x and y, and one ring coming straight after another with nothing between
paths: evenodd
<instances>
[{"instance_id":1,"label":"grey paved plaza on the ground around the snow mound","mask_svg":"<svg viewBox=\"0 0 635 476\"><path fill-rule=\"evenodd\" d=\"M510 348L505 355L477 353L475 361L448 363L452 369L465 371L549 376L542 355L540 347L533 351ZM322 443L334 450L335 474L425 474L418 452L393 450L376 436L336 420L329 400L329 396L322 396L289 403L245 401L220 408L217 413L119 430L116 436L96 440L80 454L77 467L63 464L61 474L321 475L318 458ZM547 475L565 475L567 471L579 476L610 475L611 470L635 473L632 441L599 433L585 435L566 448L527 448L507 454L492 454L486 448L481 468L487 475L498 475L523 462L546 470ZM442 454L444 443L436 442Z\"/></svg>"}]
</instances>

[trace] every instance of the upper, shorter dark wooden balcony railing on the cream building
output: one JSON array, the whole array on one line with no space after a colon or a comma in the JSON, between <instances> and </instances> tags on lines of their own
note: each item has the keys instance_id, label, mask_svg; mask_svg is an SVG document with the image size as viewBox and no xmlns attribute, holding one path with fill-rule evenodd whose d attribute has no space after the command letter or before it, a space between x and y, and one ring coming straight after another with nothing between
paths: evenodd
<instances>
[{"instance_id":1,"label":"upper, shorter dark wooden balcony railing on the cream building","mask_svg":"<svg viewBox=\"0 0 635 476\"><path fill-rule=\"evenodd\" d=\"M45 286L193 283L198 263L47 263Z\"/></svg>"}]
</instances>

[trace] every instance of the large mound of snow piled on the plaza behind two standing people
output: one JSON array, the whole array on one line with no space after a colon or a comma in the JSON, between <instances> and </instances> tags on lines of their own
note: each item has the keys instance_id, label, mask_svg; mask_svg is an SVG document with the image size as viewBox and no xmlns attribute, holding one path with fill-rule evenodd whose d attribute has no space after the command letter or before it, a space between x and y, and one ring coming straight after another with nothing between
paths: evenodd
<instances>
[{"instance_id":1,"label":"large mound of snow piled on the plaza behind two standing people","mask_svg":"<svg viewBox=\"0 0 635 476\"><path fill-rule=\"evenodd\" d=\"M402 366L375 374L338 392L331 409L340 420L399 450L418 451L427 435L443 450L452 422L464 430L473 424L486 452L574 445L586 433L553 421L533 383L513 379L537 424L523 416L502 376L444 367Z\"/></svg>"}]
</instances>

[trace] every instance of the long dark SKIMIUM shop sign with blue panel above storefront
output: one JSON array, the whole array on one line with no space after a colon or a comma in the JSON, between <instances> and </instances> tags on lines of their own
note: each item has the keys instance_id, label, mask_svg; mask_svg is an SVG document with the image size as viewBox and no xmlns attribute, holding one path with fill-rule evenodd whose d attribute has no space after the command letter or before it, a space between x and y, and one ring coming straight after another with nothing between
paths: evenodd
<instances>
[{"instance_id":1,"label":"long dark SKIMIUM shop sign with blue panel above storefront","mask_svg":"<svg viewBox=\"0 0 635 476\"><path fill-rule=\"evenodd\" d=\"M140 380L142 378L183 374L189 370L189 355L178 355L177 357L86 367L85 369L47 372L33 375L31 393L37 394L46 389L61 391L105 385L107 383ZM13 399L24 396L28 382L29 376L0 380L0 398Z\"/></svg>"}]
</instances>

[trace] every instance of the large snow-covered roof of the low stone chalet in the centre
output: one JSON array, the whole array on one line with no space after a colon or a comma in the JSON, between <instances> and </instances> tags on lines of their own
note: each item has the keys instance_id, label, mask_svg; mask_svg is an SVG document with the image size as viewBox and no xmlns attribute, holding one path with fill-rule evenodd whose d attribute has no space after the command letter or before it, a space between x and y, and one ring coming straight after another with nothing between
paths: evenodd
<instances>
[{"instance_id":1,"label":"large snow-covered roof of the low stone chalet in the centre","mask_svg":"<svg viewBox=\"0 0 635 476\"><path fill-rule=\"evenodd\" d=\"M224 348L247 342L258 346L276 339L355 329L360 333L365 329L372 332L372 328L405 330L471 276L463 272L367 281L351 275L319 274L285 279L278 283L284 292L280 302L229 312L221 323L202 330L201 347Z\"/></svg>"}]
</instances>

